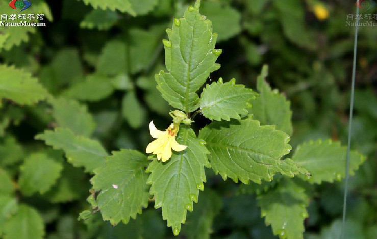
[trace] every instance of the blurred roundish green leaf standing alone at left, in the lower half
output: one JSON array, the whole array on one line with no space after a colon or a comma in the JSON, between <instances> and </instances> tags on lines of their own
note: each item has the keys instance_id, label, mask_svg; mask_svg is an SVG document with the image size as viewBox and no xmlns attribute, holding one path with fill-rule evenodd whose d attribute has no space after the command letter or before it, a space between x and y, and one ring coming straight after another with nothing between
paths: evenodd
<instances>
[{"instance_id":1,"label":"blurred roundish green leaf standing alone at left, in the lower half","mask_svg":"<svg viewBox=\"0 0 377 239\"><path fill-rule=\"evenodd\" d=\"M21 166L18 184L24 195L47 192L60 177L63 166L44 153L34 153Z\"/></svg>"}]
</instances>

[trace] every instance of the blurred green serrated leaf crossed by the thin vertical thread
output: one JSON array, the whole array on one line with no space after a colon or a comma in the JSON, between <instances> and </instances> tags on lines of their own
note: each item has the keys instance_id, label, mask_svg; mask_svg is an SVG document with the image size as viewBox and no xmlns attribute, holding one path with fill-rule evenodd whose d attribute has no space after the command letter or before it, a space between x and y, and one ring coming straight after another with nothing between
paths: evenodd
<instances>
[{"instance_id":1,"label":"blurred green serrated leaf crossed by the thin vertical thread","mask_svg":"<svg viewBox=\"0 0 377 239\"><path fill-rule=\"evenodd\" d=\"M307 169L311 177L310 183L333 182L345 177L347 147L341 146L340 142L317 140L303 143L297 146L292 160L297 165ZM357 151L350 152L349 173L364 163L366 157Z\"/></svg>"}]
</instances>

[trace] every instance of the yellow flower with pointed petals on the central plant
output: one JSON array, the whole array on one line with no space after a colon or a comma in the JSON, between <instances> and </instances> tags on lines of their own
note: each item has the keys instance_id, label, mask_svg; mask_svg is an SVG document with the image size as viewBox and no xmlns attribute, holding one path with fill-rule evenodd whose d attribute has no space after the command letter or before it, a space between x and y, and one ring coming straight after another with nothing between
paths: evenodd
<instances>
[{"instance_id":1,"label":"yellow flower with pointed petals on the central plant","mask_svg":"<svg viewBox=\"0 0 377 239\"><path fill-rule=\"evenodd\" d=\"M145 150L146 153L156 154L158 160L165 162L171 158L171 149L177 152L185 150L187 146L180 145L175 141L178 130L179 126L177 124L171 124L166 131L160 131L153 124L153 121L151 121L149 124L150 135L156 140L148 144Z\"/></svg>"}]
</instances>

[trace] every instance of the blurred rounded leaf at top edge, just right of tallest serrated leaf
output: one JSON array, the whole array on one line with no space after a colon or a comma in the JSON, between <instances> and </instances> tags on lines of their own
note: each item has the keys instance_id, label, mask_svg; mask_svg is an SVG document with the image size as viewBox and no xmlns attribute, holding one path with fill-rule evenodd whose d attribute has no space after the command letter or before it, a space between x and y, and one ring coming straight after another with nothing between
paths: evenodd
<instances>
[{"instance_id":1,"label":"blurred rounded leaf at top edge, just right of tallest serrated leaf","mask_svg":"<svg viewBox=\"0 0 377 239\"><path fill-rule=\"evenodd\" d=\"M241 32L241 14L229 5L220 1L203 1L200 11L212 21L218 41L227 40Z\"/></svg>"}]
</instances>

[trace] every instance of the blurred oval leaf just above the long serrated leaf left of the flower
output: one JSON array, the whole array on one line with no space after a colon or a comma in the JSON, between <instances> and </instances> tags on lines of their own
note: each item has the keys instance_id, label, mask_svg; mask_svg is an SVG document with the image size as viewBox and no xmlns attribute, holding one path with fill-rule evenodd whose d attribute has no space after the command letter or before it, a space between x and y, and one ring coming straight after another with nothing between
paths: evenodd
<instances>
[{"instance_id":1,"label":"blurred oval leaf just above the long serrated leaf left of the flower","mask_svg":"<svg viewBox=\"0 0 377 239\"><path fill-rule=\"evenodd\" d=\"M53 99L52 105L58 127L69 128L75 134L83 136L93 133L95 122L86 105L65 98Z\"/></svg>"}]
</instances>

